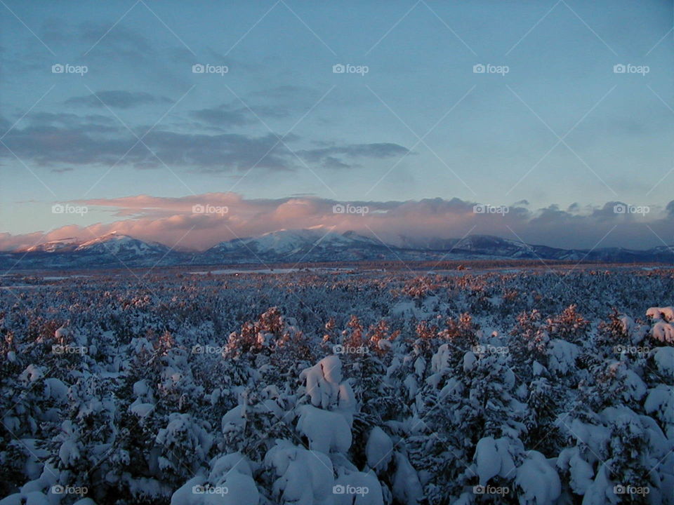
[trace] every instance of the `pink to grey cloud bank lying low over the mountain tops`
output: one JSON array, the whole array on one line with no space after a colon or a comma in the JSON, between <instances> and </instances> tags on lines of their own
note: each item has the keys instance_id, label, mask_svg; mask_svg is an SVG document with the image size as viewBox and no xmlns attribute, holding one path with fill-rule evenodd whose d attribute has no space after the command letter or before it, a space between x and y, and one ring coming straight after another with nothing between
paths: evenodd
<instances>
[{"instance_id":1,"label":"pink to grey cloud bank lying low over the mountain tops","mask_svg":"<svg viewBox=\"0 0 674 505\"><path fill-rule=\"evenodd\" d=\"M0 235L0 250L34 245L58 238L88 239L110 231L129 234L178 248L206 249L232 238L256 236L279 229L325 227L354 230L404 245L410 240L460 238L466 234L491 234L532 244L560 248L614 247L645 249L673 244L674 201L652 206L647 215L614 213L614 202L583 206L569 213L557 206L529 210L512 206L507 213L475 213L476 202L460 198L425 198L421 201L337 202L314 196L244 198L235 193L208 193L176 198L150 195L73 201L98 208L116 218L89 227L67 225L40 233ZM367 206L369 213L333 213L336 203ZM195 205L226 207L227 213L192 213ZM588 210L589 209L589 210ZM611 212L609 212L611 209Z\"/></svg>"}]
</instances>

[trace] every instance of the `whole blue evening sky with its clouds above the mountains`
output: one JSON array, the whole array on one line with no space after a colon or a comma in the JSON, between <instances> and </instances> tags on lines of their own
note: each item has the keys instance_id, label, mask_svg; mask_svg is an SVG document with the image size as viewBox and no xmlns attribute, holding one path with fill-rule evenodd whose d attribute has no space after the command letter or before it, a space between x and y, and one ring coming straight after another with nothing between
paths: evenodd
<instances>
[{"instance_id":1,"label":"whole blue evening sky with its clouds above the mountains","mask_svg":"<svg viewBox=\"0 0 674 505\"><path fill-rule=\"evenodd\" d=\"M0 250L316 226L674 244L671 2L0 11Z\"/></svg>"}]
</instances>

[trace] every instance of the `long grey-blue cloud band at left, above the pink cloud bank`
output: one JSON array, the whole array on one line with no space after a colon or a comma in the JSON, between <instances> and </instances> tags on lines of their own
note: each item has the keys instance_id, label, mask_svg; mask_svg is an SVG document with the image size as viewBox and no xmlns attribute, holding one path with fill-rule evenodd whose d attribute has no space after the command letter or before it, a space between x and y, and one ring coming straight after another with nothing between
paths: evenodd
<instances>
[{"instance_id":1,"label":"long grey-blue cloud band at left, above the pink cloud bank","mask_svg":"<svg viewBox=\"0 0 674 505\"><path fill-rule=\"evenodd\" d=\"M241 110L220 110L216 113L204 109L194 114L212 121L246 121ZM8 133L4 143L20 159L58 171L93 164L111 166L119 163L122 156L123 164L136 168L158 168L166 163L203 173L248 170L253 166L269 170L298 168L298 160L289 144L298 142L300 137L293 134L286 135L281 142L279 136L273 133L260 136L223 132L187 133L157 126L145 135L150 130L147 126L137 128L136 135L145 135L143 142L138 142L119 123L97 114L79 116L43 112L30 114L26 121L27 126L14 128ZM348 168L355 166L353 159L382 159L404 154L407 149L398 144L381 143L346 144L300 152L309 163L324 168ZM3 156L13 157L8 149L0 146L0 158Z\"/></svg>"}]
</instances>

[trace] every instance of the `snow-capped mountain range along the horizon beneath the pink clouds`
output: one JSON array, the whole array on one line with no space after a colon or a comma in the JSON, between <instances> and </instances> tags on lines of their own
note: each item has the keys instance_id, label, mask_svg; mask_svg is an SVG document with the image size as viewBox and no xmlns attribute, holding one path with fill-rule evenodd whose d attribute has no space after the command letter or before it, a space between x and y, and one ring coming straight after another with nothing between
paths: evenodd
<instances>
[{"instance_id":1,"label":"snow-capped mountain range along the horizon beneath the pink clouds","mask_svg":"<svg viewBox=\"0 0 674 505\"><path fill-rule=\"evenodd\" d=\"M91 241L64 238L0 253L1 269L155 267L178 264L269 264L416 260L566 260L588 262L674 263L674 247L647 250L595 250L530 245L491 235L416 239L399 236L396 245L355 231L324 228L279 230L220 242L201 253L172 250L164 244L111 233Z\"/></svg>"}]
</instances>

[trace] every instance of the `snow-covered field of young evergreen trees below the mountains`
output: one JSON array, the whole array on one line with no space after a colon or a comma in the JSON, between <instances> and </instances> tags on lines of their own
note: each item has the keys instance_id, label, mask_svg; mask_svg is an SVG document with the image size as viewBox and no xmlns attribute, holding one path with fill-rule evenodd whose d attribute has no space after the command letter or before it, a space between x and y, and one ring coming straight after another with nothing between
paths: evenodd
<instances>
[{"instance_id":1,"label":"snow-covered field of young evergreen trees below the mountains","mask_svg":"<svg viewBox=\"0 0 674 505\"><path fill-rule=\"evenodd\" d=\"M674 503L673 269L193 270L0 279L1 505Z\"/></svg>"}]
</instances>

